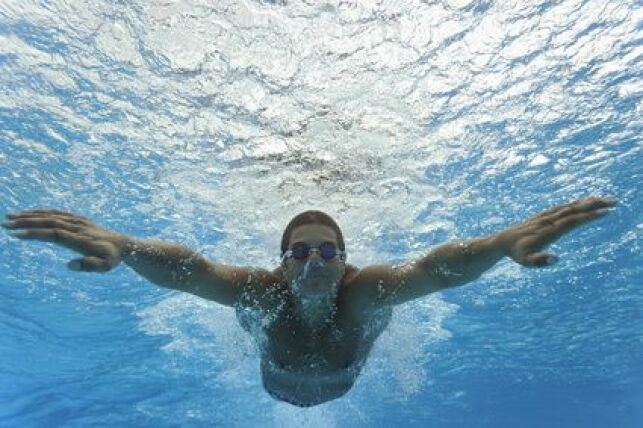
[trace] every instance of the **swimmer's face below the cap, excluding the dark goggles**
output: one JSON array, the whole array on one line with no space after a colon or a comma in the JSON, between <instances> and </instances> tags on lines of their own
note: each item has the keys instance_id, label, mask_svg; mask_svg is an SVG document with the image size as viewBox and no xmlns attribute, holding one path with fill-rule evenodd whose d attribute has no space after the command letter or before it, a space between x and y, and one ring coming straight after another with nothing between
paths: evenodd
<instances>
[{"instance_id":1,"label":"swimmer's face below the cap, excluding the dark goggles","mask_svg":"<svg viewBox=\"0 0 643 428\"><path fill-rule=\"evenodd\" d=\"M335 231L321 224L306 224L293 229L288 248L298 242L313 248L331 242L339 250ZM287 258L282 263L282 269L295 294L314 297L336 290L344 275L345 264L339 257L326 261L318 251L311 251L307 259Z\"/></svg>"}]
</instances>

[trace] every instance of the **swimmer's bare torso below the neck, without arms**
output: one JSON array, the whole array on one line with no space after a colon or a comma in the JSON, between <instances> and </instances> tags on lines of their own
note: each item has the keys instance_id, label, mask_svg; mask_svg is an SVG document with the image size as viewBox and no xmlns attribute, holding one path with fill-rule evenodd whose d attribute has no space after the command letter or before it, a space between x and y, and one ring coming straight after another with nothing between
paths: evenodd
<instances>
[{"instance_id":1,"label":"swimmer's bare torso below the neck, without arms","mask_svg":"<svg viewBox=\"0 0 643 428\"><path fill-rule=\"evenodd\" d=\"M287 286L277 282L271 287L261 305L248 299L237 307L240 324L259 345L266 390L300 406L345 394L388 325L392 309L355 313L340 286L332 322L312 332L293 316Z\"/></svg>"}]
</instances>

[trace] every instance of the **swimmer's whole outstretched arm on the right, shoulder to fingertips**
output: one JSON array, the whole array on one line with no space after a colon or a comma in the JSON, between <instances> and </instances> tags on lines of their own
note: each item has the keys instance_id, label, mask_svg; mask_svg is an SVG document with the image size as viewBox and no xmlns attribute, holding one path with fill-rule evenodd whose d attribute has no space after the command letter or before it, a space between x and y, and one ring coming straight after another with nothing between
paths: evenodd
<instances>
[{"instance_id":1,"label":"swimmer's whole outstretched arm on the right, shoulder to fingertips","mask_svg":"<svg viewBox=\"0 0 643 428\"><path fill-rule=\"evenodd\" d=\"M400 304L477 279L505 256L527 267L554 263L543 250L573 228L607 214L615 201L586 198L544 211L485 238L442 245L400 266L371 266L353 278L367 305ZM375 284L377 287L368 286Z\"/></svg>"}]
</instances>

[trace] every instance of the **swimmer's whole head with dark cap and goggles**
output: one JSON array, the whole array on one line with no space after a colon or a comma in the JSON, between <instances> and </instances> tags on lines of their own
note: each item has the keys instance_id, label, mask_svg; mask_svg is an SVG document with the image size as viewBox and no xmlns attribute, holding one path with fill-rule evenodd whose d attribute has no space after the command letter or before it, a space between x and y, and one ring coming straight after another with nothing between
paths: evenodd
<instances>
[{"instance_id":1,"label":"swimmer's whole head with dark cap and goggles","mask_svg":"<svg viewBox=\"0 0 643 428\"><path fill-rule=\"evenodd\" d=\"M329 257L334 254L333 247L336 255ZM345 272L344 251L342 232L328 214L321 211L298 214L290 220L281 238L285 279L295 294L302 297L321 297L336 291Z\"/></svg>"}]
</instances>

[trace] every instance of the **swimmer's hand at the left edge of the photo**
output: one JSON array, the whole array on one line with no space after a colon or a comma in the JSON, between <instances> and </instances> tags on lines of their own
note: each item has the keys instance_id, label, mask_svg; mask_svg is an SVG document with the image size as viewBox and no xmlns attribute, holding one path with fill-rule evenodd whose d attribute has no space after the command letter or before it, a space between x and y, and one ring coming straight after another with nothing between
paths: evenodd
<instances>
[{"instance_id":1,"label":"swimmer's hand at the left edge of the photo","mask_svg":"<svg viewBox=\"0 0 643 428\"><path fill-rule=\"evenodd\" d=\"M72 270L107 272L121 260L129 238L91 223L85 217L56 210L28 210L7 214L6 229L23 229L14 233L19 239L53 242L83 254L85 257L67 263Z\"/></svg>"}]
</instances>

